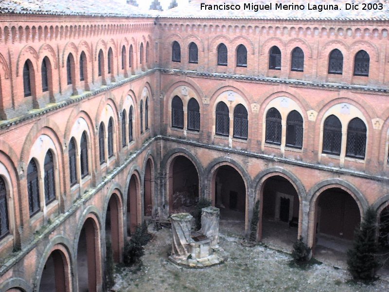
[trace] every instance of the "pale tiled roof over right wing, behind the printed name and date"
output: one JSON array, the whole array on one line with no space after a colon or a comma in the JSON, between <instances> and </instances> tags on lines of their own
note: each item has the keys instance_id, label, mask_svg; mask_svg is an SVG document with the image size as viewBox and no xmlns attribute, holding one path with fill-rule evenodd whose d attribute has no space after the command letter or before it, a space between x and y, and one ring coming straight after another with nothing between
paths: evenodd
<instances>
[{"instance_id":1,"label":"pale tiled roof over right wing, behind the printed name and date","mask_svg":"<svg viewBox=\"0 0 389 292\"><path fill-rule=\"evenodd\" d=\"M200 3L205 4L240 4L240 10L200 10ZM244 3L272 4L271 10L244 10ZM276 9L276 3L303 4L303 10ZM308 10L313 5L338 5L339 10ZM346 3L358 4L358 10L346 10ZM362 10L362 3L382 4L382 10ZM323 6L323 7L324 7ZM327 6L328 7L328 6ZM379 7L378 7L379 8ZM191 3L178 5L176 8L159 13L166 18L253 18L253 19L288 19L288 20L389 20L389 0L192 0Z\"/></svg>"}]
</instances>

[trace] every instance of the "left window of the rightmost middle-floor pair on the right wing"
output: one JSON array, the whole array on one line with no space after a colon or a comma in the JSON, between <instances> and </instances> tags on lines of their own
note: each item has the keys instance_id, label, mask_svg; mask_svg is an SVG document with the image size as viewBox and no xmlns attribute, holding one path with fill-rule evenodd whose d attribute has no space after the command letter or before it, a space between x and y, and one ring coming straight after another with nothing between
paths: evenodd
<instances>
[{"instance_id":1,"label":"left window of the rightmost middle-floor pair on the right wing","mask_svg":"<svg viewBox=\"0 0 389 292\"><path fill-rule=\"evenodd\" d=\"M342 124L335 115L330 115L324 121L323 153L339 155L342 146Z\"/></svg>"}]
</instances>

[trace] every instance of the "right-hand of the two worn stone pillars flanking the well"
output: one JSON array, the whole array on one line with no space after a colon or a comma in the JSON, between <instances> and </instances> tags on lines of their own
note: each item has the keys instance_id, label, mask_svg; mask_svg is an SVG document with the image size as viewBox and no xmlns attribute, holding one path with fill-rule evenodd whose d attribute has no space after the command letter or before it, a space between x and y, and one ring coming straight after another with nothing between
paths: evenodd
<instances>
[{"instance_id":1,"label":"right-hand of the two worn stone pillars flanking the well","mask_svg":"<svg viewBox=\"0 0 389 292\"><path fill-rule=\"evenodd\" d=\"M220 209L206 207L201 209L201 230L199 233L211 239L211 248L219 248L219 218Z\"/></svg>"}]
</instances>

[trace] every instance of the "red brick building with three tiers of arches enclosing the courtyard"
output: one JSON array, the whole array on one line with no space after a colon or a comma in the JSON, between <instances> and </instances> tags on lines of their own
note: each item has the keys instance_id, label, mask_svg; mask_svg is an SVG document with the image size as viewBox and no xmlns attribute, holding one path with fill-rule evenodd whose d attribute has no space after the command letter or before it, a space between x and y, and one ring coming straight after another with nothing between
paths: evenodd
<instances>
[{"instance_id":1,"label":"red brick building with three tiers of arches enclosing the courtyard","mask_svg":"<svg viewBox=\"0 0 389 292\"><path fill-rule=\"evenodd\" d=\"M325 17L68 2L0 6L1 292L103 291L106 238L119 262L144 218L201 197L246 235L259 200L258 240L295 222L314 248L387 211L388 1Z\"/></svg>"}]
</instances>

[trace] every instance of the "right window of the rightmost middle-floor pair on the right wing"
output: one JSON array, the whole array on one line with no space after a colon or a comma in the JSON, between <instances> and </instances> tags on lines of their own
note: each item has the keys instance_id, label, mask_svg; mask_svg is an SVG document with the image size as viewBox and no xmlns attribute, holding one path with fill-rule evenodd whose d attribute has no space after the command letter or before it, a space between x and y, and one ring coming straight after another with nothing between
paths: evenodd
<instances>
[{"instance_id":1,"label":"right window of the rightmost middle-floor pair on the right wing","mask_svg":"<svg viewBox=\"0 0 389 292\"><path fill-rule=\"evenodd\" d=\"M366 125L360 118L354 118L347 127L346 156L365 158Z\"/></svg>"}]
</instances>

